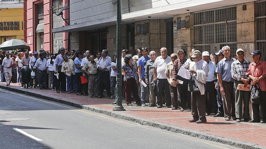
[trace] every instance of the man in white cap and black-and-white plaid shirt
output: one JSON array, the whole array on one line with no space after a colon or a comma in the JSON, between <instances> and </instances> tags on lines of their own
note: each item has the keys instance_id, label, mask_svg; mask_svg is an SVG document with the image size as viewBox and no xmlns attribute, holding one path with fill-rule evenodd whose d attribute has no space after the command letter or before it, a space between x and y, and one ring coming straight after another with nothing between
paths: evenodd
<instances>
[{"instance_id":1,"label":"man in white cap and black-and-white plaid shirt","mask_svg":"<svg viewBox=\"0 0 266 149\"><path fill-rule=\"evenodd\" d=\"M250 91L241 91L237 90L238 84L244 84L246 87L249 83L248 76L246 72L248 71L248 67L250 61L245 60L244 50L237 49L236 50L237 60L234 61L231 65L231 74L232 78L234 79L234 90L235 90L235 118L236 122L241 122L242 118L242 102L244 101L244 121L248 122L250 120L249 117L249 98L250 98Z\"/></svg>"}]
</instances>

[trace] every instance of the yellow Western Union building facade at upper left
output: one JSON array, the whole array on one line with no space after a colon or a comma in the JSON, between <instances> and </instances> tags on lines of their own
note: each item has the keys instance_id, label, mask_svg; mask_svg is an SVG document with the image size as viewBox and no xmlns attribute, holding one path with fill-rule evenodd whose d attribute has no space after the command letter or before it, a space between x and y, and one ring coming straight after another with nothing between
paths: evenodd
<instances>
[{"instance_id":1,"label":"yellow Western Union building facade at upper left","mask_svg":"<svg viewBox=\"0 0 266 149\"><path fill-rule=\"evenodd\" d=\"M24 39L23 1L0 0L0 44L10 39Z\"/></svg>"}]
</instances>

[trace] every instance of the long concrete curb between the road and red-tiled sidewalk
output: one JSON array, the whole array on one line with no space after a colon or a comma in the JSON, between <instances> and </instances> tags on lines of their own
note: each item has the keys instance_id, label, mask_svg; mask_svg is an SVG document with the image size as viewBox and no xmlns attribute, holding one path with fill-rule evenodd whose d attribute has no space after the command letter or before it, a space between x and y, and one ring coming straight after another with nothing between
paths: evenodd
<instances>
[{"instance_id":1,"label":"long concrete curb between the road and red-tiled sidewalk","mask_svg":"<svg viewBox=\"0 0 266 149\"><path fill-rule=\"evenodd\" d=\"M59 103L62 103L62 104L67 104L67 105L70 105L70 106L73 106L73 107L86 109L86 110L89 110L89 111L92 111L92 112L96 112L96 113L105 114L105 115L111 116L113 118L118 118L118 119L123 119L123 120L127 120L127 121L132 121L132 122L135 122L135 123L138 123L138 124L141 124L141 125L151 126L151 127L155 127L155 128L171 131L171 132L174 132L174 133L185 134L185 135L189 135L191 137L197 137L197 138L204 139L204 140L214 141L214 142L230 145L230 146L233 146L233 147L249 148L249 149L266 149L266 147L261 146L261 145L257 145L257 144L254 144L254 143L238 141L238 140L229 139L229 138L225 138L225 137L219 137L219 136L212 135L212 134L206 134L206 133L203 133L201 131L194 131L194 130L190 130L190 129L187 129L187 128L173 126L173 125L165 124L165 123L158 122L158 121L152 121L152 120L148 120L148 119L143 119L143 118L135 117L135 116L132 116L132 115L129 115L129 114L121 114L121 113L116 112L116 111L105 110L105 109L98 108L98 107L95 107L95 106L90 106L90 105L85 105L85 104L82 104L82 103L79 103L79 102L69 101L69 100L66 100L66 99L63 99L63 98L47 96L45 94L36 94L36 93L32 93L30 91L23 91L23 90L20 90L18 88L11 88L11 87L8 87L8 86L3 86L3 85L0 85L0 88L6 89L6 90L9 90L9 91L14 91L14 92L17 92L17 93L26 94L26 95L37 97L37 98L46 99L46 100L49 100L49 101L54 101L54 102L59 102Z\"/></svg>"}]
</instances>

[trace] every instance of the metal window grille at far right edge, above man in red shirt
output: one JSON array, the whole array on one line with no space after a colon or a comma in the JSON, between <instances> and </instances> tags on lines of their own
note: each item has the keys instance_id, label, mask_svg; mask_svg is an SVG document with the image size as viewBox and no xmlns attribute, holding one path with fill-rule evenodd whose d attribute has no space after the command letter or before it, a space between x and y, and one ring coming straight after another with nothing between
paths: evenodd
<instances>
[{"instance_id":1,"label":"metal window grille at far right edge, above man in red shirt","mask_svg":"<svg viewBox=\"0 0 266 149\"><path fill-rule=\"evenodd\" d=\"M255 17L256 17L256 49L262 52L262 59L266 58L266 2L257 1L255 3Z\"/></svg>"}]
</instances>

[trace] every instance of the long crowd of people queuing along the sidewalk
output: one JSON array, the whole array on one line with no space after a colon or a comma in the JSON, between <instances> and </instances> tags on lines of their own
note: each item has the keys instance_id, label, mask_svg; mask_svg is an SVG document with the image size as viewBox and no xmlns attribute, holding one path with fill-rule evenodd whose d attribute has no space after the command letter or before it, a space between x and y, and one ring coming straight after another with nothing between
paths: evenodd
<instances>
[{"instance_id":1,"label":"long crowd of people queuing along the sidewalk","mask_svg":"<svg viewBox=\"0 0 266 149\"><path fill-rule=\"evenodd\" d=\"M266 62L261 52L252 53L253 62L245 59L245 51L238 49L231 57L229 46L217 53L192 49L187 59L183 50L168 56L167 48L160 49L160 56L146 47L130 47L122 51L122 89L127 106L167 107L172 110L190 110L189 122L206 123L206 116L224 117L225 121L266 122ZM108 56L108 50L97 52L72 50L65 53L60 48L56 54L44 49L25 53L0 52L0 80L10 85L16 82L23 88L21 68L28 66L35 76L30 88L51 89L56 93L67 92L90 98L113 99L116 92L117 56ZM16 71L14 71L16 70ZM16 75L14 74L16 72ZM258 84L262 100L252 104L250 119L250 90L239 89ZM242 106L244 103L244 106ZM116 102L112 103L116 104ZM243 109L243 113L242 113Z\"/></svg>"}]
</instances>

